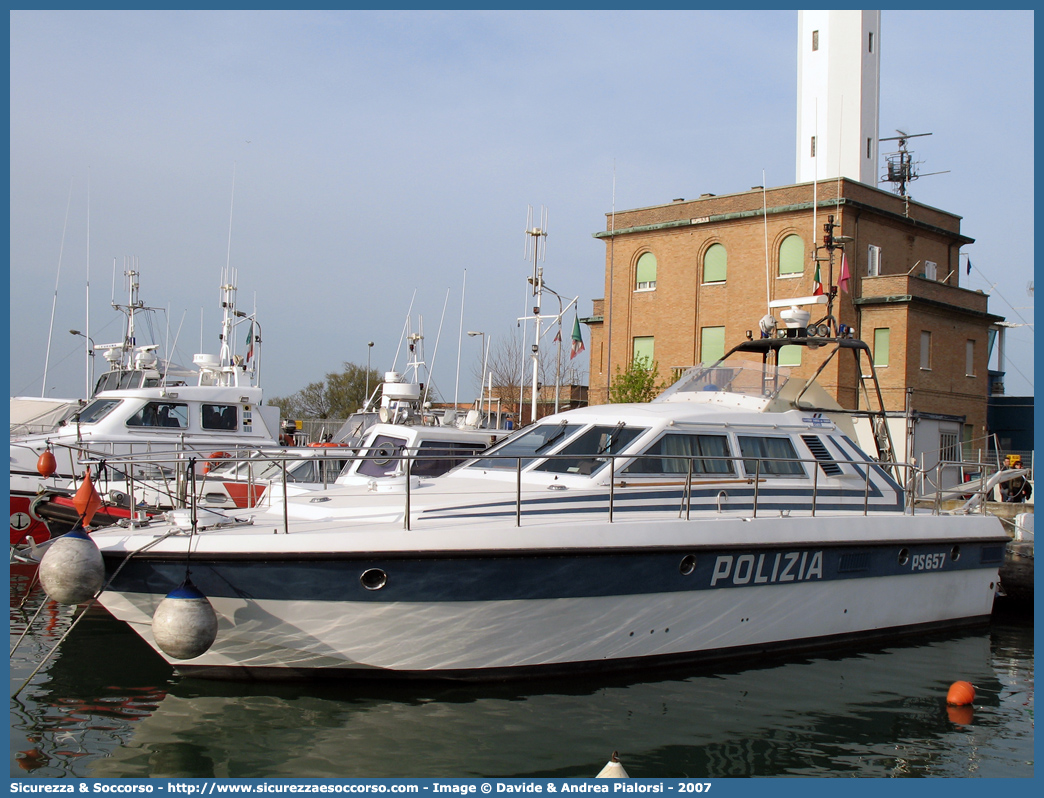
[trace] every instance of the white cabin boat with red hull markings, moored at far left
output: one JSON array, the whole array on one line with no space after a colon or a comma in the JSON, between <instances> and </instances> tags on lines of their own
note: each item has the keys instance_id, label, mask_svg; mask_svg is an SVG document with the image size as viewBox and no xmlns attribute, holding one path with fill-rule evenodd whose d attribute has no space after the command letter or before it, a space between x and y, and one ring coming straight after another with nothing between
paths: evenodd
<instances>
[{"instance_id":1,"label":"white cabin boat with red hull markings, moored at far left","mask_svg":"<svg viewBox=\"0 0 1044 798\"><path fill-rule=\"evenodd\" d=\"M234 272L222 273L220 351L195 355L192 372L160 358L158 345L136 345L135 315L148 308L138 299L137 273L127 276L126 334L122 343L97 347L111 369L97 379L92 398L54 429L11 437L13 546L41 543L75 522L74 509L66 508L71 519L56 509L48 516L55 529L49 529L42 504L70 499L86 462L110 464L95 468L92 478L114 498L104 512L127 516L130 504L176 504L175 454L196 456L201 466L216 454L278 445L279 408L263 404L257 384L260 334L254 333L255 314L236 309ZM235 330L244 323L245 353L237 354ZM45 453L46 474L40 470Z\"/></svg>"}]
</instances>

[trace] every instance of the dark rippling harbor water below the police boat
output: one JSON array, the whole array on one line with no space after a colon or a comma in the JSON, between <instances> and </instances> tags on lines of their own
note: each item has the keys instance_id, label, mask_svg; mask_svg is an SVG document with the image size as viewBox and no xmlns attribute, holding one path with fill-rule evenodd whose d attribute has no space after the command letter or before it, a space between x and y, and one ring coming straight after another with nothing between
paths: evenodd
<instances>
[{"instance_id":1,"label":"dark rippling harbor water below the police boat","mask_svg":"<svg viewBox=\"0 0 1044 798\"><path fill-rule=\"evenodd\" d=\"M1031 777L1031 616L730 668L495 685L175 676L11 573L13 778ZM38 614L39 611L39 614ZM948 686L976 687L947 707Z\"/></svg>"}]
</instances>

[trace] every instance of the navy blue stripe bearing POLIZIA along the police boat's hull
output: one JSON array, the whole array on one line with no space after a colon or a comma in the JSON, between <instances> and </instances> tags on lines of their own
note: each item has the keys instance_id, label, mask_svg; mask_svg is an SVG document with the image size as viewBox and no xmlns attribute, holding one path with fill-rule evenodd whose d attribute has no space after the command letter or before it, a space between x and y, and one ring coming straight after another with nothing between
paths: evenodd
<instances>
[{"instance_id":1,"label":"navy blue stripe bearing POLIZIA along the police boat's hull","mask_svg":"<svg viewBox=\"0 0 1044 798\"><path fill-rule=\"evenodd\" d=\"M331 554L327 559L308 560L230 555L218 561L196 553L189 563L143 554L125 564L111 589L165 595L185 581L191 568L192 582L211 597L424 603L578 598L722 588L769 589L801 582L996 570L1002 557L1003 544L970 541L962 542L959 549L939 542L714 550L693 546L529 556ZM105 557L110 574L121 561ZM374 569L383 572L383 586L366 589L362 574ZM381 581L371 579L370 584Z\"/></svg>"}]
</instances>

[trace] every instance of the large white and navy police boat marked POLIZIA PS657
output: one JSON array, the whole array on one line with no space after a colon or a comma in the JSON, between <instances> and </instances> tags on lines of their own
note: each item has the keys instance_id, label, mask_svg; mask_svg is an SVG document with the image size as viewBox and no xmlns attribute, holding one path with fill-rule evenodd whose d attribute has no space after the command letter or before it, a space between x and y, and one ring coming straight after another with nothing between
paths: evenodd
<instances>
[{"instance_id":1,"label":"large white and navy police boat marked POLIZIA PS657","mask_svg":"<svg viewBox=\"0 0 1044 798\"><path fill-rule=\"evenodd\" d=\"M997 520L915 512L850 416L773 365L794 344L810 341L745 342L730 354L760 363L541 419L443 476L96 532L100 602L213 678L513 678L984 620ZM185 583L217 620L188 659L152 634Z\"/></svg>"}]
</instances>

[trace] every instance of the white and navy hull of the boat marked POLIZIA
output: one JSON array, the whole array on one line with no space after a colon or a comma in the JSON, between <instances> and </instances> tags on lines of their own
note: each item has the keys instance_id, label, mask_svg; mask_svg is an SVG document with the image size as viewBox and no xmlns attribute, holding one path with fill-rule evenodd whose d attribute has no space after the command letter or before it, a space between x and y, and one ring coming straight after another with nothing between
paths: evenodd
<instances>
[{"instance_id":1,"label":"white and navy hull of the boat marked POLIZIA","mask_svg":"<svg viewBox=\"0 0 1044 798\"><path fill-rule=\"evenodd\" d=\"M168 661L233 678L503 678L824 648L960 626L992 610L1003 545L990 519L907 516L918 534L895 540L881 540L873 519L799 520L809 535L790 547L763 540L777 519L670 524L675 536L707 529L705 541L664 538L600 554L330 553L318 564L288 551L231 560L197 551L191 574L217 613L217 641L196 659ZM830 540L838 527L849 541L867 540ZM698 564L685 573L689 556ZM151 615L185 563L136 560L130 582L101 601L155 647ZM371 569L386 576L385 587L359 584Z\"/></svg>"}]
</instances>

